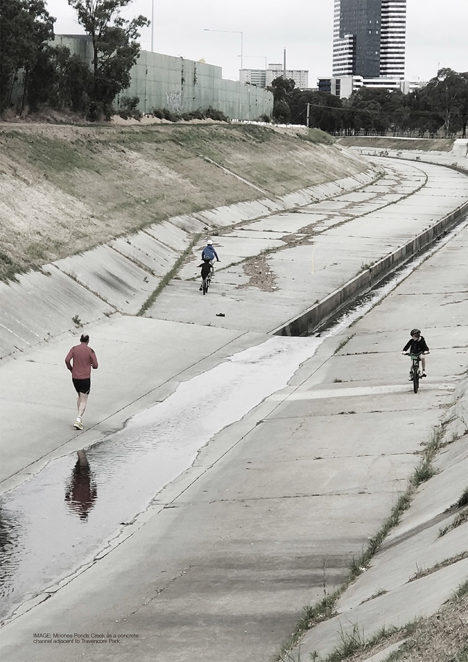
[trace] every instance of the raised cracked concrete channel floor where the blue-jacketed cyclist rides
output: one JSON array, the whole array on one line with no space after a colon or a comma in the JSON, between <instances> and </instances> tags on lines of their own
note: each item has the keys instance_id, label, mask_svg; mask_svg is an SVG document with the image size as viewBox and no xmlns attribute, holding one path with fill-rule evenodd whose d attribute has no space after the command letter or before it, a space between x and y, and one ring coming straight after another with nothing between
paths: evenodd
<instances>
[{"instance_id":1,"label":"raised cracked concrete channel floor where the blue-jacketed cyclist rides","mask_svg":"<svg viewBox=\"0 0 468 662\"><path fill-rule=\"evenodd\" d=\"M382 167L383 160L377 159L375 164ZM208 297L205 297L210 299L210 303L203 302L209 323L227 327L235 325L237 328L257 332L270 332L275 328L269 314L273 311L271 291L261 291L254 287L239 289L239 285L245 287L244 281L239 279L238 285L235 285L235 278L232 276L228 280L222 279L225 269L232 273L233 267L230 263L244 260L252 254L254 246L259 250L263 242L263 250L271 250L274 242L261 235L264 230L274 228L277 231L283 224L285 233L300 232L301 228L315 223L318 218L322 223L320 228L314 226L310 242L308 239L304 241L299 238L293 242L291 248L278 245L277 250L265 256L273 284L281 291L283 303L287 302L287 317L292 318L301 314L304 308L320 301L333 289L341 287L359 273L363 265L380 260L391 250L424 231L437 218L442 218L450 211L450 201L455 206L468 201L465 175L431 164L415 168L411 164L397 161L393 162L390 169L393 177L389 182L368 185L359 192L361 195L368 195L372 200L369 208L363 207L361 199L356 202L344 201L342 196L339 196L334 200L307 205L301 209L300 214L275 214L269 219L243 224L242 229L249 228L260 233L257 242L252 238L252 234L244 237L236 230L217 237L215 244L221 262L216 265L216 278L221 279L223 287L216 287L215 280ZM412 194L409 197L406 197L406 191L403 190L405 186L408 187L407 193ZM447 186L450 191L447 191ZM389 189L395 189L399 196L398 201L389 203L380 197L374 199L376 189L377 192L382 189L385 193L388 193ZM344 193L343 197L347 198L349 195ZM430 201L429 206L424 207L422 200ZM333 211L332 217L324 218L323 212L330 210ZM337 211L340 213L337 214ZM293 222L291 228L290 219ZM154 306L148 308L145 313L147 316L180 321L185 319L185 310L191 306L191 288L183 281L193 279L198 260L199 256L195 254L177 279L171 281L171 287L165 289ZM242 263L235 267L235 271L238 277L242 278ZM229 286L229 283L232 285ZM252 316L250 308L244 306L246 297L249 301L256 301L257 307L265 310L266 314ZM176 305L173 305L174 301ZM275 307L276 305L275 303ZM216 317L216 314L213 314L214 309L216 312L224 312L225 317ZM200 321L198 316L197 321Z\"/></svg>"}]
</instances>

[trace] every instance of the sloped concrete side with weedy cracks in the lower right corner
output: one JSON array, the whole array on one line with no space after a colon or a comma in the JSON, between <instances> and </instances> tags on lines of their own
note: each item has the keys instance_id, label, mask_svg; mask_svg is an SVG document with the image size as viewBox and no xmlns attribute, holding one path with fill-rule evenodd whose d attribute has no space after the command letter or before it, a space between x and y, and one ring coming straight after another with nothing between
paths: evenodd
<instances>
[{"instance_id":1,"label":"sloped concrete side with weedy cracks in the lower right corner","mask_svg":"<svg viewBox=\"0 0 468 662\"><path fill-rule=\"evenodd\" d=\"M337 615L310 630L289 659L308 659L317 651L319 657L314 659L320 661L343 649L346 641L362 645L383 630L402 628L417 618L430 616L466 581L467 387L465 378L436 428L439 438L428 440L440 446L432 462L434 475L422 483L369 569L344 592L336 605ZM402 643L386 646L384 640L379 645L378 659L385 659ZM369 649L368 655L359 659L377 660L374 653L375 649Z\"/></svg>"}]
</instances>

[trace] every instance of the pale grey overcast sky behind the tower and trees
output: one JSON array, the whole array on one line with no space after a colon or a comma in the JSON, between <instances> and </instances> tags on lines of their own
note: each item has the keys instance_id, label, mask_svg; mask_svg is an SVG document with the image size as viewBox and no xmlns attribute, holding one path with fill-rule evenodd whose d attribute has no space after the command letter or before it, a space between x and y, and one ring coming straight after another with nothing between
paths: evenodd
<instances>
[{"instance_id":1,"label":"pale grey overcast sky behind the tower and trees","mask_svg":"<svg viewBox=\"0 0 468 662\"><path fill-rule=\"evenodd\" d=\"M308 69L309 87L319 76L332 73L333 0L134 0L125 16L139 14L151 20L154 1L154 51L203 58L222 67L224 78L238 80L241 34L245 69L283 64L288 69ZM56 34L84 30L67 0L46 0L56 17ZM407 0L406 77L428 81L438 67L468 70L468 0ZM207 32L231 30L232 32ZM151 49L151 28L144 28L142 50Z\"/></svg>"}]
</instances>

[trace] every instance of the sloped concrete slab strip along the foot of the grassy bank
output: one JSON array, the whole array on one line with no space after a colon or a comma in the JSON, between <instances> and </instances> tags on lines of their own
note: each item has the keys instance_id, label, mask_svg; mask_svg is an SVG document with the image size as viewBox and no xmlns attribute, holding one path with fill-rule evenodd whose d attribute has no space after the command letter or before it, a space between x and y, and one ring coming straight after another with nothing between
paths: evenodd
<instances>
[{"instance_id":1,"label":"sloped concrete slab strip along the foot of the grassy bank","mask_svg":"<svg viewBox=\"0 0 468 662\"><path fill-rule=\"evenodd\" d=\"M26 351L79 326L112 314L137 314L183 260L185 250L219 226L230 226L323 201L375 181L379 172L323 183L276 199L241 202L173 216L130 236L69 256L0 284L1 357ZM74 320L74 321L73 321Z\"/></svg>"}]
</instances>

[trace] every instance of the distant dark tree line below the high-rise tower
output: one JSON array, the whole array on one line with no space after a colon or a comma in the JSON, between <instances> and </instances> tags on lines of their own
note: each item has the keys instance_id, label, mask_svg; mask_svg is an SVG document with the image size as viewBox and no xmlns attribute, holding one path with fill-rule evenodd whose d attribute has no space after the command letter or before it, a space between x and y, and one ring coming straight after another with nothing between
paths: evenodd
<instances>
[{"instance_id":1,"label":"distant dark tree line below the high-rise tower","mask_svg":"<svg viewBox=\"0 0 468 662\"><path fill-rule=\"evenodd\" d=\"M408 94L400 90L361 87L349 99L327 92L295 89L293 79L271 83L273 117L279 122L316 126L331 134L466 135L468 72L438 71L425 87Z\"/></svg>"}]
</instances>

